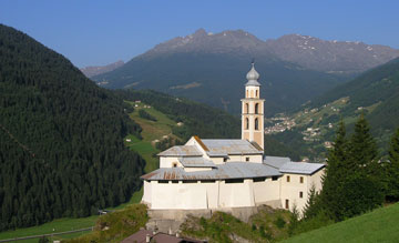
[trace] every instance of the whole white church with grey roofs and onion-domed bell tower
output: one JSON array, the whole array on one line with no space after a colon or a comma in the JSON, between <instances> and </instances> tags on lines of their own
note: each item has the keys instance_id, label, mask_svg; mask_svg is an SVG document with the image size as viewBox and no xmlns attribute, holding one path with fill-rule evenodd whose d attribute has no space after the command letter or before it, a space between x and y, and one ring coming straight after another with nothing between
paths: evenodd
<instances>
[{"instance_id":1,"label":"whole white church with grey roofs and onion-domed bell tower","mask_svg":"<svg viewBox=\"0 0 399 243\"><path fill-rule=\"evenodd\" d=\"M150 210L215 210L269 205L303 211L325 164L264 154L264 99L254 63L242 99L242 139L192 136L161 153L160 169L142 175Z\"/></svg>"}]
</instances>

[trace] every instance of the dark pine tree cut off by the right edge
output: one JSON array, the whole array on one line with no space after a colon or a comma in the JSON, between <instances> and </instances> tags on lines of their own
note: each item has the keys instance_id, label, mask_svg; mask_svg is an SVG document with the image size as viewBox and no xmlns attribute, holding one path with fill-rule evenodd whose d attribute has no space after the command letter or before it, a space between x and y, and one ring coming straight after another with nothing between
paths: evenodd
<instances>
[{"instance_id":1,"label":"dark pine tree cut off by the right edge","mask_svg":"<svg viewBox=\"0 0 399 243\"><path fill-rule=\"evenodd\" d=\"M399 128L392 135L388 163L386 163L386 176L387 176L387 199L389 201L399 200Z\"/></svg>"}]
</instances>

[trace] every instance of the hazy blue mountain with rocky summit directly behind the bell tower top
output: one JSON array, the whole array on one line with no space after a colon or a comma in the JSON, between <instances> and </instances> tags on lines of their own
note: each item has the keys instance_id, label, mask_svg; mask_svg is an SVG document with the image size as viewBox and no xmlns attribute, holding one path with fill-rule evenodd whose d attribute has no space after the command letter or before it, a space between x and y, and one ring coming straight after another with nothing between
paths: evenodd
<instances>
[{"instance_id":1,"label":"hazy blue mountain with rocky summit directly behind the bell tower top","mask_svg":"<svg viewBox=\"0 0 399 243\"><path fill-rule=\"evenodd\" d=\"M154 89L239 113L245 74L253 58L268 115L296 107L345 80L282 61L264 41L241 30L216 34L198 30L172 39L93 80L111 89Z\"/></svg>"}]
</instances>

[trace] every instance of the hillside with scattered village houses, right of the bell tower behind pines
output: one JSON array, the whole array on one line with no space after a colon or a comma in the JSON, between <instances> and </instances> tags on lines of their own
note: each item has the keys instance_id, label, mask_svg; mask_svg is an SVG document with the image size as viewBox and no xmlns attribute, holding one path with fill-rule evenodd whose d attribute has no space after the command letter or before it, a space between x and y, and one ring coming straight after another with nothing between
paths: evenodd
<instances>
[{"instance_id":1,"label":"hillside with scattered village houses, right of the bell tower behind pines","mask_svg":"<svg viewBox=\"0 0 399 243\"><path fill-rule=\"evenodd\" d=\"M279 114L267 123L267 133L301 154L324 156L340 119L352 132L364 113L381 154L399 126L399 58L371 69L306 103L296 112Z\"/></svg>"}]
</instances>

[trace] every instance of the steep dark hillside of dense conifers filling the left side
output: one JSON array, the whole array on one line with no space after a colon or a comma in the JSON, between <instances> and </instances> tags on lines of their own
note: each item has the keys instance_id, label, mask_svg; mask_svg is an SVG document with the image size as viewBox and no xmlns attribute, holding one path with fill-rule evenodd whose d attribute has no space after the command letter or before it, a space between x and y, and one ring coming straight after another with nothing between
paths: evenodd
<instances>
[{"instance_id":1,"label":"steep dark hillside of dense conifers filling the left side","mask_svg":"<svg viewBox=\"0 0 399 243\"><path fill-rule=\"evenodd\" d=\"M0 24L0 230L86 216L139 190L144 161L123 100Z\"/></svg>"}]
</instances>

